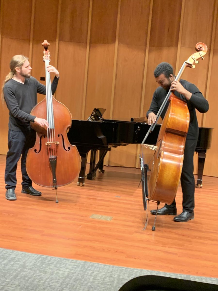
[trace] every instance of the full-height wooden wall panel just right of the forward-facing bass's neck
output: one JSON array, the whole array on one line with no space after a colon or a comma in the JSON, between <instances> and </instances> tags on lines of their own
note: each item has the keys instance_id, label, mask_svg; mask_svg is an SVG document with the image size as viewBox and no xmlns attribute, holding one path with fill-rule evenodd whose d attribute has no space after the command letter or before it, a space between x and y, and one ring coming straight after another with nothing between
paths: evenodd
<instances>
[{"instance_id":1,"label":"full-height wooden wall panel just right of the forward-facing bass's neck","mask_svg":"<svg viewBox=\"0 0 218 291\"><path fill-rule=\"evenodd\" d=\"M73 119L83 115L89 8L89 0L61 2L56 97L69 108Z\"/></svg>"}]
</instances>

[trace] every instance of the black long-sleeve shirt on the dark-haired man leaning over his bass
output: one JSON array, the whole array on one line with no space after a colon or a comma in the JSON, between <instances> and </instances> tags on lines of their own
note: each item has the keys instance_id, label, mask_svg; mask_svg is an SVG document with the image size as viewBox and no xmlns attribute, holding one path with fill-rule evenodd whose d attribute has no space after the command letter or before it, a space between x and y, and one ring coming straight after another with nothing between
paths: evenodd
<instances>
[{"instance_id":1,"label":"black long-sleeve shirt on the dark-haired man leaning over his bass","mask_svg":"<svg viewBox=\"0 0 218 291\"><path fill-rule=\"evenodd\" d=\"M198 133L199 133L199 127L198 127L198 120L197 120L195 109L197 109L201 113L205 113L209 109L209 104L208 104L208 101L203 97L202 93L194 84L186 80L180 80L179 82L183 85L183 87L187 91L192 93L192 97L190 98L190 100L186 100L182 94L179 94L177 91L173 92L176 95L176 97L187 101L187 106L190 113L190 123L189 123L189 129L188 129L186 139L197 139ZM159 86L156 89L156 91L153 94L149 111L146 113L147 118L150 112L153 112L155 114L158 113L158 110L160 109L165 97L167 96L167 93L168 91L166 91L161 86ZM168 107L168 104L165 106L164 110L162 111L162 114L161 114L162 119L165 116L167 107Z\"/></svg>"}]
</instances>

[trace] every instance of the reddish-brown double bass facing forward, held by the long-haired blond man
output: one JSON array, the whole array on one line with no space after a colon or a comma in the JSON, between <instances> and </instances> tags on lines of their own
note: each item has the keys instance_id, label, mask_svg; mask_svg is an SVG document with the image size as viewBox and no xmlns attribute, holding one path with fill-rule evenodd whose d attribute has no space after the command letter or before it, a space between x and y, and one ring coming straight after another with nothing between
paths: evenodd
<instances>
[{"instance_id":1,"label":"reddish-brown double bass facing forward, held by the long-haired blond man","mask_svg":"<svg viewBox=\"0 0 218 291\"><path fill-rule=\"evenodd\" d=\"M46 119L49 128L31 122L31 127L36 131L36 141L33 148L28 150L26 171L34 183L57 190L78 177L81 158L76 146L71 145L67 138L67 130L71 127L71 113L52 96L50 72L46 70L50 62L49 43L44 40L42 45L46 96L32 109L31 115Z\"/></svg>"}]
</instances>

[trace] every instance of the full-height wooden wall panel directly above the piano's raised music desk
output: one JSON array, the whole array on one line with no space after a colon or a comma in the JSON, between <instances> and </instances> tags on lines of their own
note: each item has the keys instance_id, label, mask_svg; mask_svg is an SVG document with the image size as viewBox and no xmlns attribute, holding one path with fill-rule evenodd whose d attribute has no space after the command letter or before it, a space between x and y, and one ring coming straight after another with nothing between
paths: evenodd
<instances>
[{"instance_id":1,"label":"full-height wooden wall panel directly above the piano's raised music desk","mask_svg":"<svg viewBox=\"0 0 218 291\"><path fill-rule=\"evenodd\" d=\"M98 107L106 108L109 118L117 11L117 0L93 1L85 119Z\"/></svg>"}]
</instances>

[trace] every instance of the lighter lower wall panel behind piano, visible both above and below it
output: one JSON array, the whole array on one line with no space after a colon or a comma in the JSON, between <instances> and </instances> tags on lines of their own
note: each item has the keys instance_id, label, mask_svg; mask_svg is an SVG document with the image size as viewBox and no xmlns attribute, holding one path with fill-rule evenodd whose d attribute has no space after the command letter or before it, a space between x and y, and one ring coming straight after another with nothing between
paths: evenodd
<instances>
[{"instance_id":1,"label":"lighter lower wall panel behind piano, visible both above and below it","mask_svg":"<svg viewBox=\"0 0 218 291\"><path fill-rule=\"evenodd\" d=\"M119 44L112 119L130 121L131 117L139 117L143 64L144 47ZM128 164L134 167L135 159L136 146L131 145L113 150L109 155L109 165L115 166L120 163L123 166Z\"/></svg>"}]
</instances>

